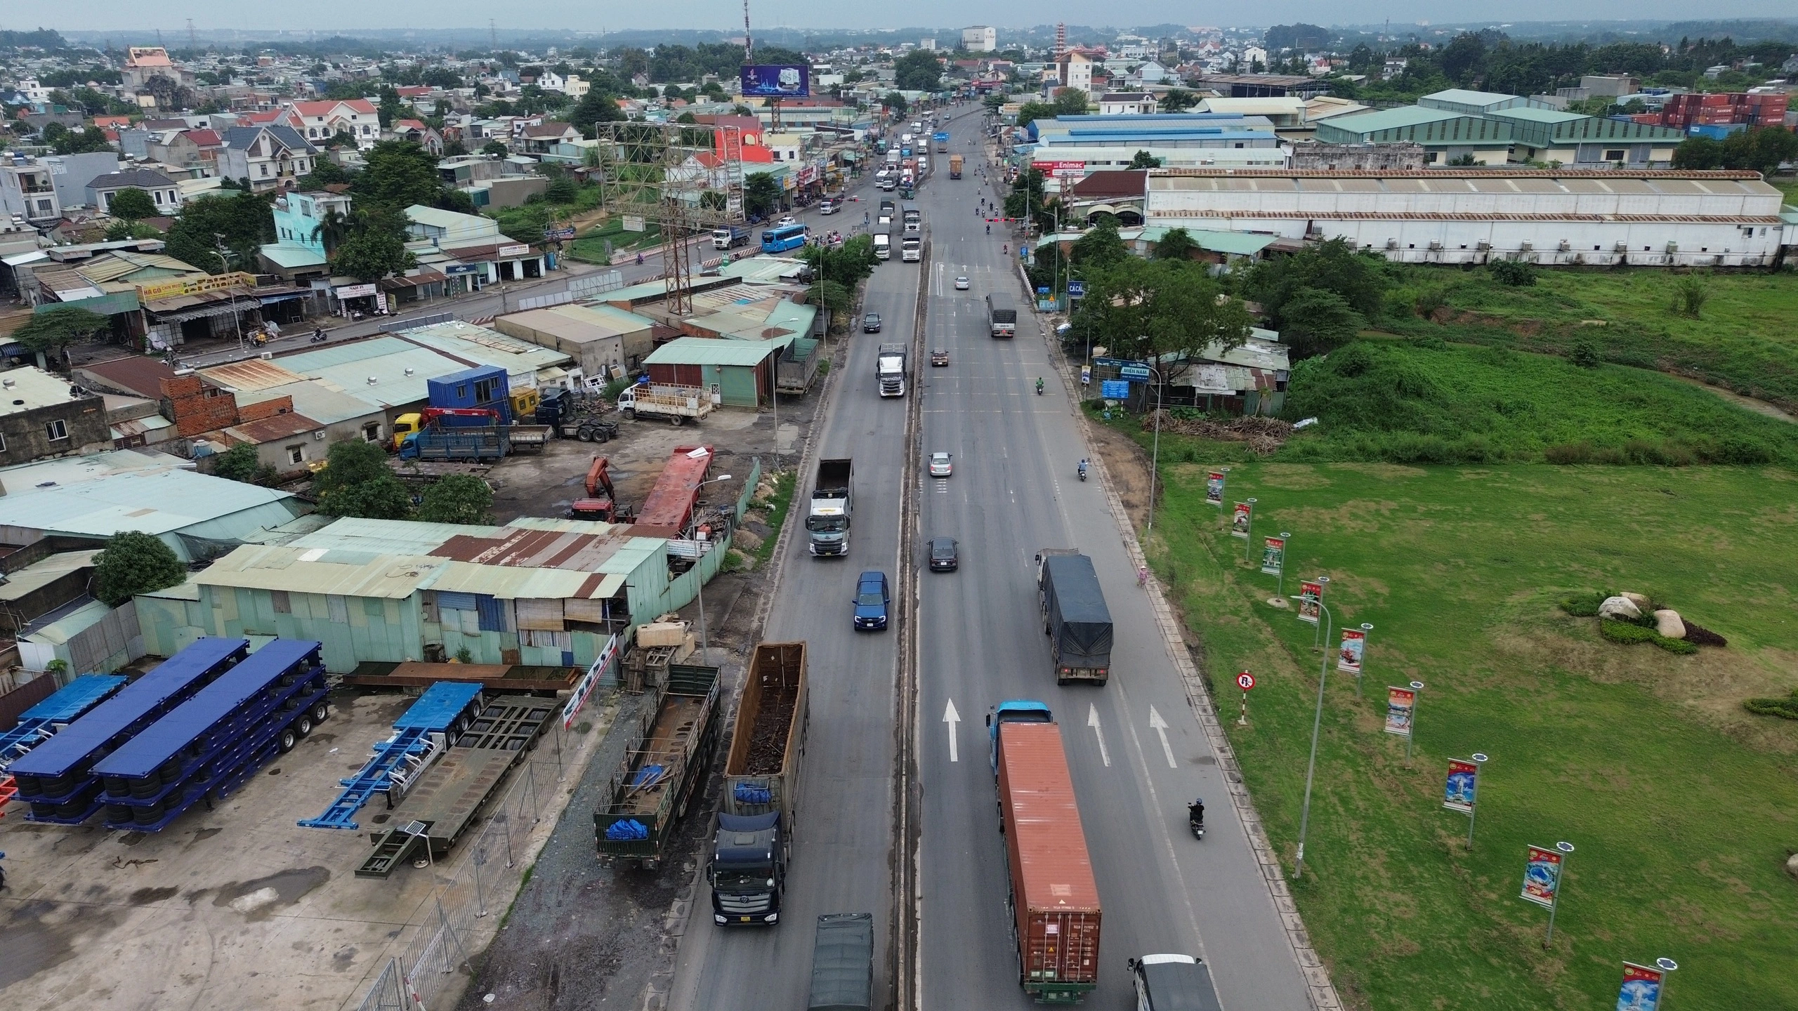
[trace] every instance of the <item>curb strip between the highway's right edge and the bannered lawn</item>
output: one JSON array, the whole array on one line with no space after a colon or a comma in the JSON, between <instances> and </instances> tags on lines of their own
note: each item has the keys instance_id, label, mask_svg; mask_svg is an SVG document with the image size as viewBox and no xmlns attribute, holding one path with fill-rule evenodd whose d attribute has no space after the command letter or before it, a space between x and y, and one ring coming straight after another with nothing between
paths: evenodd
<instances>
[{"instance_id":1,"label":"curb strip between the highway's right edge and the bannered lawn","mask_svg":"<svg viewBox=\"0 0 1798 1011\"><path fill-rule=\"evenodd\" d=\"M1048 340L1046 333L1045 340ZM1079 405L1081 399L1073 389L1075 383L1068 376L1068 371L1057 367L1055 372L1061 376L1063 385L1068 387L1068 394L1073 398L1073 403ZM1075 407L1075 410L1079 410L1079 407ZM1113 522L1118 525L1118 534L1124 538L1124 550L1129 552L1131 561L1135 561L1136 567L1149 565L1149 559L1142 552L1142 543L1136 540L1136 529L1129 522L1129 513L1124 511L1124 502L1117 495L1117 486L1113 486L1106 477L1104 457L1095 453L1090 461L1091 466L1099 470L1099 480L1104 482L1106 502L1111 507ZM1268 840L1268 831L1262 828L1260 815L1255 811L1255 799L1250 797L1248 786L1242 783L1242 766L1237 763L1235 750L1230 747L1230 738L1224 734L1223 723L1217 721L1217 709L1212 705L1212 693L1192 662L1192 653L1187 649L1187 640L1179 631L1179 619L1174 617L1174 608L1162 594L1160 579L1151 577L1145 588L1149 590L1149 606L1154 610L1154 621L1162 628L1162 639L1167 642L1169 653L1174 658L1174 669L1179 671L1179 680L1187 685L1187 705L1199 720L1199 727L1205 730L1205 739L1210 741L1212 752L1217 756L1217 768L1224 774L1230 801L1235 804L1237 819L1242 822L1242 831L1248 833L1250 849L1255 851L1255 860L1260 863L1262 883L1268 885L1268 896L1273 899L1273 908L1280 914L1280 925L1286 928L1286 941L1293 946L1293 959L1298 962L1298 971L1305 977L1305 986L1311 989L1311 1007L1314 1011L1341 1011L1341 995L1336 993L1336 984L1331 982L1331 973L1323 966L1323 959L1320 959L1316 948L1311 946L1311 935L1305 932L1305 921L1298 916L1298 907L1293 903L1293 892L1286 887L1286 869L1280 867L1280 854Z\"/></svg>"}]
</instances>

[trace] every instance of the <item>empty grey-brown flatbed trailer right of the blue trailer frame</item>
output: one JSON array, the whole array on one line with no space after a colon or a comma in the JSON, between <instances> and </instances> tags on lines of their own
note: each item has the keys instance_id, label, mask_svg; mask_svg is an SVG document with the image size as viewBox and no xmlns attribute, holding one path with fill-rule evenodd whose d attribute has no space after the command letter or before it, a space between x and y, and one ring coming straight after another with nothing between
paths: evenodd
<instances>
[{"instance_id":1,"label":"empty grey-brown flatbed trailer right of the blue trailer frame","mask_svg":"<svg viewBox=\"0 0 1798 1011\"><path fill-rule=\"evenodd\" d=\"M455 747L394 804L387 831L369 833L374 853L356 867L358 878L387 878L414 853L430 845L442 860L475 822L487 801L500 792L505 774L518 765L548 727L557 705L530 694L502 694L487 702ZM405 826L419 822L419 835Z\"/></svg>"}]
</instances>

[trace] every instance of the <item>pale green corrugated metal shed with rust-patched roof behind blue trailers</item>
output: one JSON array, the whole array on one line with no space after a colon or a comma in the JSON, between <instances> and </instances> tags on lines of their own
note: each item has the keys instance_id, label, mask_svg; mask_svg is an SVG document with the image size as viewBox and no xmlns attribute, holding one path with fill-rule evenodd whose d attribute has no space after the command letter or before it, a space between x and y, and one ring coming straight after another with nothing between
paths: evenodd
<instances>
[{"instance_id":1,"label":"pale green corrugated metal shed with rust-patched roof behind blue trailers","mask_svg":"<svg viewBox=\"0 0 1798 1011\"><path fill-rule=\"evenodd\" d=\"M137 597L147 653L201 635L325 644L325 669L367 660L588 666L611 635L685 606L725 552L687 568L678 545L629 525L518 518L509 527L302 520L180 586ZM683 572L676 572L683 568Z\"/></svg>"}]
</instances>

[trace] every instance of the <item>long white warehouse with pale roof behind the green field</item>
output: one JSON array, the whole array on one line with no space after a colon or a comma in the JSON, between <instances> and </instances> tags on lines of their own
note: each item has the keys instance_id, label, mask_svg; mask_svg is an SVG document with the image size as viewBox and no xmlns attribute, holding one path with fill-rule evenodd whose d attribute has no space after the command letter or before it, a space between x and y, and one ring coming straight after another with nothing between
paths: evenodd
<instances>
[{"instance_id":1,"label":"long white warehouse with pale roof behind the green field","mask_svg":"<svg viewBox=\"0 0 1798 1011\"><path fill-rule=\"evenodd\" d=\"M1404 263L1764 266L1782 194L1758 173L1154 169L1151 227L1343 237Z\"/></svg>"}]
</instances>

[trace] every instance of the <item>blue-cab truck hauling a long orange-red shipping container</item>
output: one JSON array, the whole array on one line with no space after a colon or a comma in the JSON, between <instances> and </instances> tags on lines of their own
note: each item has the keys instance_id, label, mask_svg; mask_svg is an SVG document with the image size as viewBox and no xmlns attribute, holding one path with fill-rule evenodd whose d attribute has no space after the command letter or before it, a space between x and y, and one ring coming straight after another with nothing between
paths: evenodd
<instances>
[{"instance_id":1,"label":"blue-cab truck hauling a long orange-red shipping container","mask_svg":"<svg viewBox=\"0 0 1798 1011\"><path fill-rule=\"evenodd\" d=\"M1041 702L1014 700L987 714L987 736L1018 982L1039 1004L1073 1004L1099 986L1100 908L1061 727Z\"/></svg>"}]
</instances>

